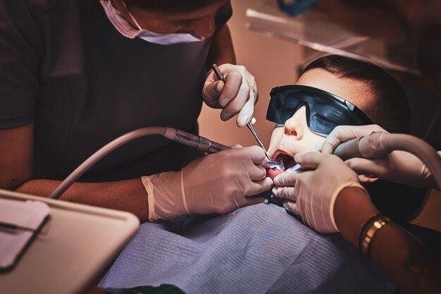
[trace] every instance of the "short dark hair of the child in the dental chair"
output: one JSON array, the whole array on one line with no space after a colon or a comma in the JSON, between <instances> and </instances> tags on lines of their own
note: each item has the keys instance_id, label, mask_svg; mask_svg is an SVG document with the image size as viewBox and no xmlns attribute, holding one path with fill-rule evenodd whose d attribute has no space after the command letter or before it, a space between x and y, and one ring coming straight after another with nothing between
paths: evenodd
<instances>
[{"instance_id":1,"label":"short dark hair of the child in the dental chair","mask_svg":"<svg viewBox=\"0 0 441 294\"><path fill-rule=\"evenodd\" d=\"M338 78L366 83L374 94L375 102L371 109L361 110L373 123L390 133L409 133L411 112L406 93L383 68L340 55L328 55L316 59L304 68L303 73L315 68L328 71Z\"/></svg>"}]
</instances>

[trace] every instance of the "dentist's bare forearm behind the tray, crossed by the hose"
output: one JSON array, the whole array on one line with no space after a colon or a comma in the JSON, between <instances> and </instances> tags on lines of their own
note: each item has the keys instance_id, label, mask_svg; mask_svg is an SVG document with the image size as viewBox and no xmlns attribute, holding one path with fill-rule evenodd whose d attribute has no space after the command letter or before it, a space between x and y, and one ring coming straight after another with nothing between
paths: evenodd
<instances>
[{"instance_id":1,"label":"dentist's bare forearm behind the tray, crossed by the hose","mask_svg":"<svg viewBox=\"0 0 441 294\"><path fill-rule=\"evenodd\" d=\"M60 183L59 180L29 180L16 191L49 197ZM140 221L149 219L147 192L140 178L107 183L74 183L60 199L131 212Z\"/></svg>"}]
</instances>

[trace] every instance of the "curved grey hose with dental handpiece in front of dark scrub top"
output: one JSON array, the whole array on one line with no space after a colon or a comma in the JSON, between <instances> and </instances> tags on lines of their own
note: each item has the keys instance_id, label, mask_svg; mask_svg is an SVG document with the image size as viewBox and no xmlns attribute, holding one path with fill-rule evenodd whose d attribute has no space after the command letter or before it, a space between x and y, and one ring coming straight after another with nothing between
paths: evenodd
<instances>
[{"instance_id":1,"label":"curved grey hose with dental handpiece in front of dark scrub top","mask_svg":"<svg viewBox=\"0 0 441 294\"><path fill-rule=\"evenodd\" d=\"M135 140L139 137L144 137L148 135L163 135L170 140L178 142L182 145L187 145L193 148L200 150L201 152L214 153L219 152L223 149L228 149L225 145L212 142L205 137L200 137L197 135L193 135L182 130L176 130L175 128L166 128L166 127L147 127L147 128L139 128L137 130L132 130L125 135L117 137L115 140L109 142L104 147L101 147L97 152L92 154L91 157L86 159L80 166L78 166L75 171L70 173L70 175L61 182L60 185L52 192L49 196L52 199L58 199L61 195L63 195L66 190L75 183L78 178L80 178L86 171L88 171L94 164L96 164L99 160L105 157L107 154L117 149L118 147L125 145L126 143Z\"/></svg>"}]
</instances>

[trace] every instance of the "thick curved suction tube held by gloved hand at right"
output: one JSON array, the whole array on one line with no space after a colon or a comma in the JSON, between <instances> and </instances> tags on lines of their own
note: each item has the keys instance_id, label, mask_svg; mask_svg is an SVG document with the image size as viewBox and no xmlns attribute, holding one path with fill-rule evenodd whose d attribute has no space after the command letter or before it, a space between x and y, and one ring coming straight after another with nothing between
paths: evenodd
<instances>
[{"instance_id":1,"label":"thick curved suction tube held by gloved hand at right","mask_svg":"<svg viewBox=\"0 0 441 294\"><path fill-rule=\"evenodd\" d=\"M401 150L418 157L432 173L438 188L441 188L441 157L428 143L411 135L374 132L366 137L343 142L334 154L343 160L354 157L381 159L392 151Z\"/></svg>"}]
</instances>

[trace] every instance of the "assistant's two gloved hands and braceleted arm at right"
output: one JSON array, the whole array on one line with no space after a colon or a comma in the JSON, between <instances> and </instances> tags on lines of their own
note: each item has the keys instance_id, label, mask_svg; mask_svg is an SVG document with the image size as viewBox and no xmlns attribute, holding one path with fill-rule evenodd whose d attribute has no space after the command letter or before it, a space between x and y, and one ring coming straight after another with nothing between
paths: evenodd
<instances>
[{"instance_id":1,"label":"assistant's two gloved hands and braceleted arm at right","mask_svg":"<svg viewBox=\"0 0 441 294\"><path fill-rule=\"evenodd\" d=\"M385 271L399 293L440 293L441 260L381 214L357 176L368 174L414 187L440 189L426 165L413 154L401 151L391 152L384 159L354 158L345 162L331 154L341 142L374 131L385 132L379 125L338 126L317 147L320 152L295 155L297 164L307 170L276 176L273 195L316 231L340 232ZM441 156L441 152L438 154Z\"/></svg>"}]
</instances>

